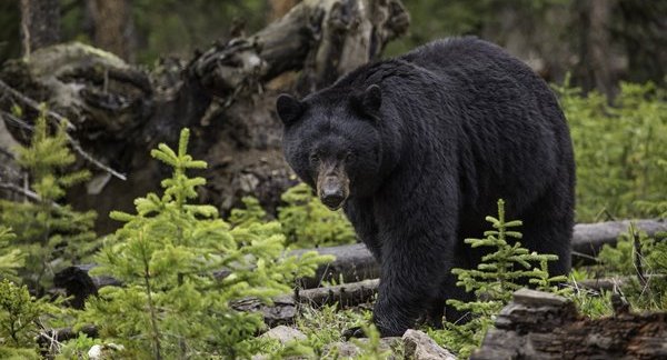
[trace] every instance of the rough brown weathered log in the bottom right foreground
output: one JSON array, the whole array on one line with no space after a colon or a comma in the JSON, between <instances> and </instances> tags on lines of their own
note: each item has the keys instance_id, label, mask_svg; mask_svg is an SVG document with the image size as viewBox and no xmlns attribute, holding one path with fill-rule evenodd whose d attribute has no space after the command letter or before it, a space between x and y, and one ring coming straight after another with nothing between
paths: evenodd
<instances>
[{"instance_id":1,"label":"rough brown weathered log in the bottom right foreground","mask_svg":"<svg viewBox=\"0 0 667 360\"><path fill-rule=\"evenodd\" d=\"M589 319L550 293L521 289L470 359L667 359L667 312Z\"/></svg>"}]
</instances>

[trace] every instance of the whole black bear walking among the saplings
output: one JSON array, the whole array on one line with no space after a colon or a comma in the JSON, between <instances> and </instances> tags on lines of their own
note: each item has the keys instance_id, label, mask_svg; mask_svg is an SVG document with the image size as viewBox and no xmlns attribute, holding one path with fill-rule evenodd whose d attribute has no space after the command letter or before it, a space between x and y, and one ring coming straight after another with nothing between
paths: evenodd
<instances>
[{"instance_id":1,"label":"whole black bear walking among the saplings","mask_svg":"<svg viewBox=\"0 0 667 360\"><path fill-rule=\"evenodd\" d=\"M522 244L570 269L575 162L557 99L529 67L477 38L369 63L301 101L277 100L283 150L330 209L344 208L381 268L374 321L400 336L467 299L451 268L506 200ZM450 321L448 311L445 313Z\"/></svg>"}]
</instances>

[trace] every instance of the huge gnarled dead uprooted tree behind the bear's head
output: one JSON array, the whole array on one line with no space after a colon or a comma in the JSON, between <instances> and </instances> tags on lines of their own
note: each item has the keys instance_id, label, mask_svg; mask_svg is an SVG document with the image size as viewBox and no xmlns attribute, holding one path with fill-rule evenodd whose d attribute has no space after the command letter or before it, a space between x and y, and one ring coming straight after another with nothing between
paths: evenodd
<instances>
[{"instance_id":1,"label":"huge gnarled dead uprooted tree behind the bear's head","mask_svg":"<svg viewBox=\"0 0 667 360\"><path fill-rule=\"evenodd\" d=\"M189 152L209 163L200 173L208 180L201 200L227 213L243 196L255 196L272 212L296 182L282 158L277 93L329 84L379 57L408 22L399 0L305 0L255 34L221 40L189 62L166 61L150 73L99 49L66 43L4 63L0 80L68 118L81 153L127 174L123 181L93 169L89 184L70 191L76 208L131 211L133 199L159 190L166 176L150 149L173 144L189 127ZM291 77L276 80L283 73ZM6 113L20 103L12 93L0 94L7 94L0 97ZM7 127L17 140L29 139L29 130ZM117 227L98 217L100 232Z\"/></svg>"}]
</instances>

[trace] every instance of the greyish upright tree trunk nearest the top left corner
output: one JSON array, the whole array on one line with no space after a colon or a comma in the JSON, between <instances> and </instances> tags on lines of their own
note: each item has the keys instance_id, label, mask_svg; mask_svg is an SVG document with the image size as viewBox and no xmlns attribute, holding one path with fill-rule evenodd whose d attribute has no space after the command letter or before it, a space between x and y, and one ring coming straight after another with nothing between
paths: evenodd
<instances>
[{"instance_id":1,"label":"greyish upright tree trunk nearest the top left corner","mask_svg":"<svg viewBox=\"0 0 667 360\"><path fill-rule=\"evenodd\" d=\"M60 1L21 0L23 54L60 41Z\"/></svg>"}]
</instances>

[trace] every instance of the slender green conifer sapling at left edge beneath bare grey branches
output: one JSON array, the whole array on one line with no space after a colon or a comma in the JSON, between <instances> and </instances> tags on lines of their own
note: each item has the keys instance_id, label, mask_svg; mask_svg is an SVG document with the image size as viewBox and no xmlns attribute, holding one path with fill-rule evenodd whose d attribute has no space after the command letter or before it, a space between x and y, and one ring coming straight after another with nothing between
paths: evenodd
<instances>
[{"instance_id":1,"label":"slender green conifer sapling at left edge beneath bare grey branches","mask_svg":"<svg viewBox=\"0 0 667 360\"><path fill-rule=\"evenodd\" d=\"M51 134L42 107L29 147L21 147L18 163L30 173L34 202L0 200L0 223L13 229L12 247L26 256L23 280L41 293L53 273L79 260L94 246L96 213L60 204L66 189L86 180L87 171L67 172L76 158L68 148L64 123Z\"/></svg>"}]
</instances>

